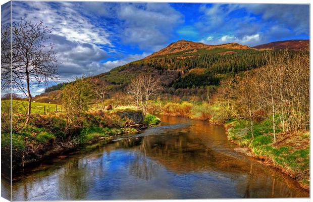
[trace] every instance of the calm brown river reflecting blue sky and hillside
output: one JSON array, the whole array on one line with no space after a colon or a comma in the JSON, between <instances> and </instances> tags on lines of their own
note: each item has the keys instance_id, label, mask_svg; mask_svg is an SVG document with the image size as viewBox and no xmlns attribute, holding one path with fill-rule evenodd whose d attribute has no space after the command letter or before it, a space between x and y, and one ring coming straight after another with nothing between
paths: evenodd
<instances>
[{"instance_id":1,"label":"calm brown river reflecting blue sky and hillside","mask_svg":"<svg viewBox=\"0 0 313 202\"><path fill-rule=\"evenodd\" d=\"M223 126L160 118L140 134L26 169L13 179L13 200L309 196L279 171L237 153Z\"/></svg>"}]
</instances>

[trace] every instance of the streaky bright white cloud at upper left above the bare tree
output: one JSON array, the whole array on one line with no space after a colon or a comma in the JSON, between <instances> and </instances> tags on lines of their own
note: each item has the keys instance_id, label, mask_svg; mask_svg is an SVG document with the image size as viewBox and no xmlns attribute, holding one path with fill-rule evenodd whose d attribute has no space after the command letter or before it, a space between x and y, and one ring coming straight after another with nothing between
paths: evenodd
<instances>
[{"instance_id":1,"label":"streaky bright white cloud at upper left above the bare tree","mask_svg":"<svg viewBox=\"0 0 313 202\"><path fill-rule=\"evenodd\" d=\"M65 36L68 40L112 45L108 31L94 26L75 8L79 8L78 3L13 2L13 21L21 17L32 22L43 20L45 25L53 27L53 34Z\"/></svg>"}]
</instances>

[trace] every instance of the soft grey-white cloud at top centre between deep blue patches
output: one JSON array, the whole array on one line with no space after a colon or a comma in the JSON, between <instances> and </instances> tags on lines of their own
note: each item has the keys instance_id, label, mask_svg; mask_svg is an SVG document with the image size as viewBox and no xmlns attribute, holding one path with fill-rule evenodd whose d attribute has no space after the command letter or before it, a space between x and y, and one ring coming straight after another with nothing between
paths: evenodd
<instances>
[{"instance_id":1,"label":"soft grey-white cloud at top centre between deep blue patches","mask_svg":"<svg viewBox=\"0 0 313 202\"><path fill-rule=\"evenodd\" d=\"M169 4L123 4L118 17L124 23L122 40L140 48L159 51L171 37L182 15Z\"/></svg>"}]
</instances>

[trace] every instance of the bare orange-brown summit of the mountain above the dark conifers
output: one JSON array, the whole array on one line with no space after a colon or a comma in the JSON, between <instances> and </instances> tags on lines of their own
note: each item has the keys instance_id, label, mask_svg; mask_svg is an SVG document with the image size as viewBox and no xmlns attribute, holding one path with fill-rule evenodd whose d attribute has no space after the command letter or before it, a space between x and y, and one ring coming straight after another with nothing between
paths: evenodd
<instances>
[{"instance_id":1,"label":"bare orange-brown summit of the mountain above the dark conifers","mask_svg":"<svg viewBox=\"0 0 313 202\"><path fill-rule=\"evenodd\" d=\"M195 52L197 49L214 49L214 48L233 48L233 49L249 49L251 47L246 45L241 45L238 43L226 43L221 45L207 45L200 42L193 42L193 41L187 41L187 40L179 40L176 42L173 42L169 44L167 47L163 48L161 51L158 51L156 53L153 53L150 56L147 56L146 58L153 58L156 56L162 56L162 55L169 55L174 53L179 53L187 50L191 50L192 52Z\"/></svg>"}]
</instances>

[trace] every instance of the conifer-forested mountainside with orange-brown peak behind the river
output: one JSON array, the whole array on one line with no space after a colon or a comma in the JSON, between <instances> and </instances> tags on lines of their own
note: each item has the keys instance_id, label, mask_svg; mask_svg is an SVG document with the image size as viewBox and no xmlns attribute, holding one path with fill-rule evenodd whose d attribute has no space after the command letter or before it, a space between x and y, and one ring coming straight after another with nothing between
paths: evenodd
<instances>
[{"instance_id":1,"label":"conifer-forested mountainside with orange-brown peak behind the river","mask_svg":"<svg viewBox=\"0 0 313 202\"><path fill-rule=\"evenodd\" d=\"M298 40L299 41L299 40ZM305 41L305 40L303 40ZM282 44L293 44L289 41L276 44L276 47L283 47ZM301 44L301 43L300 43ZM179 96L189 96L191 94L204 94L206 88L215 88L221 79L238 74L243 71L251 70L265 64L263 57L267 51L266 46L257 49L238 43L227 43L221 45L206 45L199 42L179 40L169 44L159 52L138 61L116 67L109 72L99 74L95 77L106 80L110 85L110 92L124 90L128 82L138 74L147 73L159 77L165 87L165 94ZM301 45L297 45L299 47ZM275 48L274 48L275 49ZM273 54L281 54L276 50ZM59 84L59 87L63 86ZM50 87L55 89L58 86ZM60 88L59 88L60 89ZM60 102L61 91L51 91L42 93L35 97L39 102Z\"/></svg>"}]
</instances>

